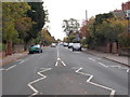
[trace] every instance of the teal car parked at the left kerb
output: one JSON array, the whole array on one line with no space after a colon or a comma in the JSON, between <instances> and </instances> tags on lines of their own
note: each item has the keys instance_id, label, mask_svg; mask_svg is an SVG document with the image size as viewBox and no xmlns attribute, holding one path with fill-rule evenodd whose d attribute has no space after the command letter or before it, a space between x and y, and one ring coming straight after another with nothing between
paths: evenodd
<instances>
[{"instance_id":1,"label":"teal car parked at the left kerb","mask_svg":"<svg viewBox=\"0 0 130 97\"><path fill-rule=\"evenodd\" d=\"M42 48L41 48L40 44L30 45L29 54L32 54L32 53L42 53Z\"/></svg>"}]
</instances>

